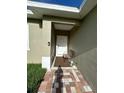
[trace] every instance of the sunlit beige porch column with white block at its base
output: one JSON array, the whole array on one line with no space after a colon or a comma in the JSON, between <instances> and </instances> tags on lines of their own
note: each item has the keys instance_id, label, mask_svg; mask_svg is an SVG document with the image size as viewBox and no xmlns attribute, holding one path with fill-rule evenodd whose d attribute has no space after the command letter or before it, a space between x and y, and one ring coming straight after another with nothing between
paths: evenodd
<instances>
[{"instance_id":1,"label":"sunlit beige porch column with white block at its base","mask_svg":"<svg viewBox=\"0 0 124 93\"><path fill-rule=\"evenodd\" d=\"M44 42L41 42L43 45L43 50L45 51L42 56L42 68L50 69L50 48L51 48L51 21L43 20L43 35L42 39ZM41 51L42 52L42 51Z\"/></svg>"}]
</instances>

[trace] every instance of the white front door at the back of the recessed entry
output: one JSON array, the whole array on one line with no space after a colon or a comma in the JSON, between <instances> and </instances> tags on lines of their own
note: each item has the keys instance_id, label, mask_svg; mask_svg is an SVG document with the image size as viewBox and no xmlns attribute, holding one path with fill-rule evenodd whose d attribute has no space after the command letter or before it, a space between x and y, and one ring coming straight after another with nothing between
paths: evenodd
<instances>
[{"instance_id":1,"label":"white front door at the back of the recessed entry","mask_svg":"<svg viewBox=\"0 0 124 93\"><path fill-rule=\"evenodd\" d=\"M63 54L67 54L67 41L67 36L57 35L56 56L62 57Z\"/></svg>"}]
</instances>

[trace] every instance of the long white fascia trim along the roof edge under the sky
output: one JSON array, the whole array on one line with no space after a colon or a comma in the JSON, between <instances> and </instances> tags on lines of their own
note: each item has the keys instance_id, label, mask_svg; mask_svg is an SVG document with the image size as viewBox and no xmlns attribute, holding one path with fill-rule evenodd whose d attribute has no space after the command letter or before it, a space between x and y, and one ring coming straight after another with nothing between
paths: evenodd
<instances>
[{"instance_id":1,"label":"long white fascia trim along the roof edge under the sky","mask_svg":"<svg viewBox=\"0 0 124 93\"><path fill-rule=\"evenodd\" d=\"M32 6L32 7L47 8L47 9L79 13L79 9L76 7L69 7L69 6L48 4L48 3L41 3L41 2L39 3L39 2L35 2L35 1L27 1L27 5Z\"/></svg>"}]
</instances>

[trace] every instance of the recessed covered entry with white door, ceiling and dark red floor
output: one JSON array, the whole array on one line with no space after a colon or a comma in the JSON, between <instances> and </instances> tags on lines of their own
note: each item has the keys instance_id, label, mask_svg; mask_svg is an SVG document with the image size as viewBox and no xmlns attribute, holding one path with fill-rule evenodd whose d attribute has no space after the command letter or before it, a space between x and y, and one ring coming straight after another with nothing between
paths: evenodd
<instances>
[{"instance_id":1,"label":"recessed covered entry with white door, ceiling and dark red floor","mask_svg":"<svg viewBox=\"0 0 124 93\"><path fill-rule=\"evenodd\" d=\"M70 67L71 53L69 50L70 31L75 28L72 23L52 24L52 39L54 40L54 59L52 67ZM54 38L54 39L53 39ZM53 52L53 51L52 51Z\"/></svg>"}]
</instances>

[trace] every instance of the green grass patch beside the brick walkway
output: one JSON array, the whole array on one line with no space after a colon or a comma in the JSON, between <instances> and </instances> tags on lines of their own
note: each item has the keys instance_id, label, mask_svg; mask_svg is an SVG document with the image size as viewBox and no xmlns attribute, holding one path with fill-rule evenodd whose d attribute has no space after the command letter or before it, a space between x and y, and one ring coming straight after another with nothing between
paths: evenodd
<instances>
[{"instance_id":1,"label":"green grass patch beside the brick walkway","mask_svg":"<svg viewBox=\"0 0 124 93\"><path fill-rule=\"evenodd\" d=\"M27 64L27 93L37 93L45 72L41 64Z\"/></svg>"}]
</instances>

